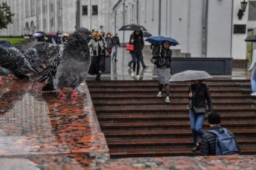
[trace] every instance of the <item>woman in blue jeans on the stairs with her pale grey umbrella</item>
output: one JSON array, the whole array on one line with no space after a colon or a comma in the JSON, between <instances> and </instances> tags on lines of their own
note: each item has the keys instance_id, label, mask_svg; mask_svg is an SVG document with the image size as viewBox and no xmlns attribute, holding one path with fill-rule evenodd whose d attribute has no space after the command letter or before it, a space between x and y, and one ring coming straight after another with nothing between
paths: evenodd
<instances>
[{"instance_id":1,"label":"woman in blue jeans on the stairs with her pale grey umbrella","mask_svg":"<svg viewBox=\"0 0 256 170\"><path fill-rule=\"evenodd\" d=\"M207 100L208 103L209 114L213 112L210 90L205 83L202 83L204 79L209 78L212 77L205 71L187 70L173 74L169 80L169 82L193 81L188 91L190 100L190 105L188 107L190 129L192 130L193 142L195 144L195 147L192 148L193 152L199 150L198 136L202 138L204 135L202 124L204 123L206 112L205 100Z\"/></svg>"}]
</instances>

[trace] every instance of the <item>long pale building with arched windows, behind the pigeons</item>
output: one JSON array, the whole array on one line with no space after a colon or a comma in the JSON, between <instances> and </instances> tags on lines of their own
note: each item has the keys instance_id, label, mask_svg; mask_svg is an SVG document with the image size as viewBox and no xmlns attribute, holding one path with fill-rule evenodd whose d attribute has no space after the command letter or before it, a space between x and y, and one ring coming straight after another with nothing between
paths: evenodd
<instances>
[{"instance_id":1,"label":"long pale building with arched windows, behind the pigeons","mask_svg":"<svg viewBox=\"0 0 256 170\"><path fill-rule=\"evenodd\" d=\"M10 5L13 23L1 36L44 32L72 32L76 27L111 31L112 8L117 0L0 0Z\"/></svg>"}]
</instances>

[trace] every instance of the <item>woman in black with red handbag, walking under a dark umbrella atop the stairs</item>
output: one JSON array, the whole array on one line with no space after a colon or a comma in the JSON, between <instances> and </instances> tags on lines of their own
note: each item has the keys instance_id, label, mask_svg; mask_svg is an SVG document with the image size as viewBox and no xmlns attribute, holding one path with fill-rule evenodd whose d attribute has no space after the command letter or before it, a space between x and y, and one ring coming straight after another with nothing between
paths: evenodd
<instances>
[{"instance_id":1,"label":"woman in black with red handbag, walking under a dark umbrella atop the stairs","mask_svg":"<svg viewBox=\"0 0 256 170\"><path fill-rule=\"evenodd\" d=\"M136 79L140 79L140 60L142 59L142 50L144 47L143 33L142 31L134 31L130 37L130 44L134 45L134 50L130 51L133 58L133 71L131 76L134 76L136 71ZM137 68L136 68L137 65Z\"/></svg>"}]
</instances>

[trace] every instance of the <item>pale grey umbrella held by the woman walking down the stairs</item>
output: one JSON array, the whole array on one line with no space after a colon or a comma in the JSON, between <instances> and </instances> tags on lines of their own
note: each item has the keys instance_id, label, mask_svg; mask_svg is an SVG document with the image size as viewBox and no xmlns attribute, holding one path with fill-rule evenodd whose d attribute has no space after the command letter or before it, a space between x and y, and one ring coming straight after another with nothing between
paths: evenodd
<instances>
[{"instance_id":1,"label":"pale grey umbrella held by the woman walking down the stairs","mask_svg":"<svg viewBox=\"0 0 256 170\"><path fill-rule=\"evenodd\" d=\"M173 74L169 82L186 82L192 80L204 80L213 78L206 71L187 70L181 73Z\"/></svg>"}]
</instances>

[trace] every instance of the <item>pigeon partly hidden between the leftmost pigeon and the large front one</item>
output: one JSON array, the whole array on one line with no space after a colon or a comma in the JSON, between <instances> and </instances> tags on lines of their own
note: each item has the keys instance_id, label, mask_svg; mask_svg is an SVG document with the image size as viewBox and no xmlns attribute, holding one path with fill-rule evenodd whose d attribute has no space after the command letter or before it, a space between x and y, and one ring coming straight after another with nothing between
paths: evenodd
<instances>
[{"instance_id":1,"label":"pigeon partly hidden between the leftmost pigeon and the large front one","mask_svg":"<svg viewBox=\"0 0 256 170\"><path fill-rule=\"evenodd\" d=\"M23 53L23 55L28 60L28 62L30 62L33 68L38 68L47 59L48 48L49 48L48 43L39 42L39 43L36 43L30 49L26 50Z\"/></svg>"}]
</instances>

